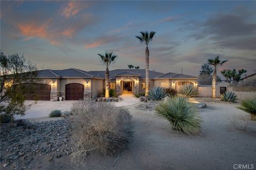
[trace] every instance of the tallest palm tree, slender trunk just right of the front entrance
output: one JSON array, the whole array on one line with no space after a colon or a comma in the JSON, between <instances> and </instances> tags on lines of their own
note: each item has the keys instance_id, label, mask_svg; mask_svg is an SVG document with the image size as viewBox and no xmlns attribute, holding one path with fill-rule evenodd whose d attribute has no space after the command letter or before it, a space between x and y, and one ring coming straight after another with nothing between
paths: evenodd
<instances>
[{"instance_id":1,"label":"tallest palm tree, slender trunk just right of the front entrance","mask_svg":"<svg viewBox=\"0 0 256 170\"><path fill-rule=\"evenodd\" d=\"M146 91L145 91L145 96L148 96L148 91L149 91L149 49L148 49L148 44L149 41L153 40L153 37L155 35L155 31L140 31L140 36L135 36L140 40L140 43L145 43L146 44L146 51L145 51L145 58L146 58Z\"/></svg>"}]
</instances>

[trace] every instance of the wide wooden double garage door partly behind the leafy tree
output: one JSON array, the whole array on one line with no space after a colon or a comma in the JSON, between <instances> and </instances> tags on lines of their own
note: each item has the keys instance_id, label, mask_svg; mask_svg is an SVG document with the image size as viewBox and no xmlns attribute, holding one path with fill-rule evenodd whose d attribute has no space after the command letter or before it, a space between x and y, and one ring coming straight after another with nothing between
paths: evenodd
<instances>
[{"instance_id":1,"label":"wide wooden double garage door partly behind the leafy tree","mask_svg":"<svg viewBox=\"0 0 256 170\"><path fill-rule=\"evenodd\" d=\"M51 86L48 84L30 83L25 84L26 100L50 100Z\"/></svg>"}]
</instances>

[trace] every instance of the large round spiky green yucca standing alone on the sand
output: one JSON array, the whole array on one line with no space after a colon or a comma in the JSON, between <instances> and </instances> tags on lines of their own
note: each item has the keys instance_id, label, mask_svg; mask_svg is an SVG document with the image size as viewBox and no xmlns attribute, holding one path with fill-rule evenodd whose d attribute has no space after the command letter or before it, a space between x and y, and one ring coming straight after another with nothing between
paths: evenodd
<instances>
[{"instance_id":1,"label":"large round spiky green yucca standing alone on the sand","mask_svg":"<svg viewBox=\"0 0 256 170\"><path fill-rule=\"evenodd\" d=\"M195 105L186 98L172 97L156 107L156 114L170 121L172 129L195 135L200 132L202 118Z\"/></svg>"}]
</instances>

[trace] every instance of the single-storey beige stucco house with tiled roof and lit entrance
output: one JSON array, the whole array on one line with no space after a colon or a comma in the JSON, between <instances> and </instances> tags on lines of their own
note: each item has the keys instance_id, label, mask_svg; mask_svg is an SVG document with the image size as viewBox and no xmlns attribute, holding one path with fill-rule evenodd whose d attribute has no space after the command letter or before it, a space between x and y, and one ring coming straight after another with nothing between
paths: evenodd
<instances>
[{"instance_id":1,"label":"single-storey beige stucco house with tiled roof and lit entrance","mask_svg":"<svg viewBox=\"0 0 256 170\"><path fill-rule=\"evenodd\" d=\"M145 69L117 69L109 72L110 89L118 95L145 92ZM79 69L38 71L39 83L28 87L36 91L38 100L91 100L105 88L105 71L84 71ZM197 77L177 73L149 71L150 88L163 87L179 90L182 86L197 86ZM33 100L33 97L27 96Z\"/></svg>"}]
</instances>

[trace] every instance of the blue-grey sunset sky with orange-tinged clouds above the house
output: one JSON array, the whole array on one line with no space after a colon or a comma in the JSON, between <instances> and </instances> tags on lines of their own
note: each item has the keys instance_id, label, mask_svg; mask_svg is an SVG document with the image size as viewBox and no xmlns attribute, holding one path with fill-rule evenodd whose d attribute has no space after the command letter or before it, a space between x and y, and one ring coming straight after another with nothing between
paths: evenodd
<instances>
[{"instance_id":1,"label":"blue-grey sunset sky with orange-tinged clouds above the house","mask_svg":"<svg viewBox=\"0 0 256 170\"><path fill-rule=\"evenodd\" d=\"M1 1L0 17L1 50L39 69L105 70L106 50L118 55L110 70L143 69L143 30L157 32L150 70L197 76L217 55L229 60L219 70L256 69L256 1Z\"/></svg>"}]
</instances>

